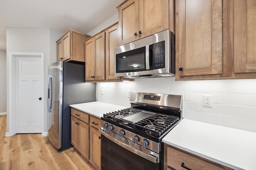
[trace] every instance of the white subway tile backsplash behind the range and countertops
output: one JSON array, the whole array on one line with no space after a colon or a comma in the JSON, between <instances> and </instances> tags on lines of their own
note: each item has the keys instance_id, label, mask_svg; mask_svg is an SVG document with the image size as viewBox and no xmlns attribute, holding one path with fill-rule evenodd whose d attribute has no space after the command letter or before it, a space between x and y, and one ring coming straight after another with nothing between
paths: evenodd
<instances>
[{"instance_id":1,"label":"white subway tile backsplash behind the range and countertops","mask_svg":"<svg viewBox=\"0 0 256 170\"><path fill-rule=\"evenodd\" d=\"M256 132L256 79L175 81L174 77L135 79L134 82L98 83L98 101L130 107L128 90L182 95L186 119ZM203 106L212 95L212 107Z\"/></svg>"}]
</instances>

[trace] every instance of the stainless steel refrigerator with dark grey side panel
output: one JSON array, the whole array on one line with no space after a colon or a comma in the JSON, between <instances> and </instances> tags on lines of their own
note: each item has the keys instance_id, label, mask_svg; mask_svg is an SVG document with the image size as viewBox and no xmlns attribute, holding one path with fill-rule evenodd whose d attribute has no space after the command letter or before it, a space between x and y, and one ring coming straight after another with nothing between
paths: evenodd
<instances>
[{"instance_id":1,"label":"stainless steel refrigerator with dark grey side panel","mask_svg":"<svg viewBox=\"0 0 256 170\"><path fill-rule=\"evenodd\" d=\"M73 146L69 105L95 101L96 83L85 83L84 63L58 61L48 66L48 72L48 138L58 150L65 150Z\"/></svg>"}]
</instances>

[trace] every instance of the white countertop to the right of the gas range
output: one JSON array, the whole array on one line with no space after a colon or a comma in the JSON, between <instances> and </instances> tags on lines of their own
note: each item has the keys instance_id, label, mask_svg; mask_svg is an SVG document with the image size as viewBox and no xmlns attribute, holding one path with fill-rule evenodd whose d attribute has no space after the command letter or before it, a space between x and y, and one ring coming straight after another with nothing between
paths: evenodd
<instances>
[{"instance_id":1,"label":"white countertop to the right of the gas range","mask_svg":"<svg viewBox=\"0 0 256 170\"><path fill-rule=\"evenodd\" d=\"M182 119L162 141L230 168L256 170L256 132Z\"/></svg>"}]
</instances>

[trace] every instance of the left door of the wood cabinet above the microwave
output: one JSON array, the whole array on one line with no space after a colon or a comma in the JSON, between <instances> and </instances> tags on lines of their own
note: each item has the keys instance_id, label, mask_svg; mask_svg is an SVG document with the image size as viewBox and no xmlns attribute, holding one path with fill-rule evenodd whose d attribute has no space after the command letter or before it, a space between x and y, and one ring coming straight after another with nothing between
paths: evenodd
<instances>
[{"instance_id":1,"label":"left door of the wood cabinet above the microwave","mask_svg":"<svg viewBox=\"0 0 256 170\"><path fill-rule=\"evenodd\" d=\"M119 45L139 39L139 0L128 0L118 8L118 27Z\"/></svg>"}]
</instances>

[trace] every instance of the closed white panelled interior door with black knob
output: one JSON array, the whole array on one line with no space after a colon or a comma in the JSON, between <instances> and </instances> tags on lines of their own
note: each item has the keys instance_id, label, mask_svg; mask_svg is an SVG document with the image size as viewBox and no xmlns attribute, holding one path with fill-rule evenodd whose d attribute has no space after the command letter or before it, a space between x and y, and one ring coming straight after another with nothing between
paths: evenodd
<instances>
[{"instance_id":1,"label":"closed white panelled interior door with black knob","mask_svg":"<svg viewBox=\"0 0 256 170\"><path fill-rule=\"evenodd\" d=\"M42 132L42 78L40 56L16 57L17 133Z\"/></svg>"}]
</instances>

